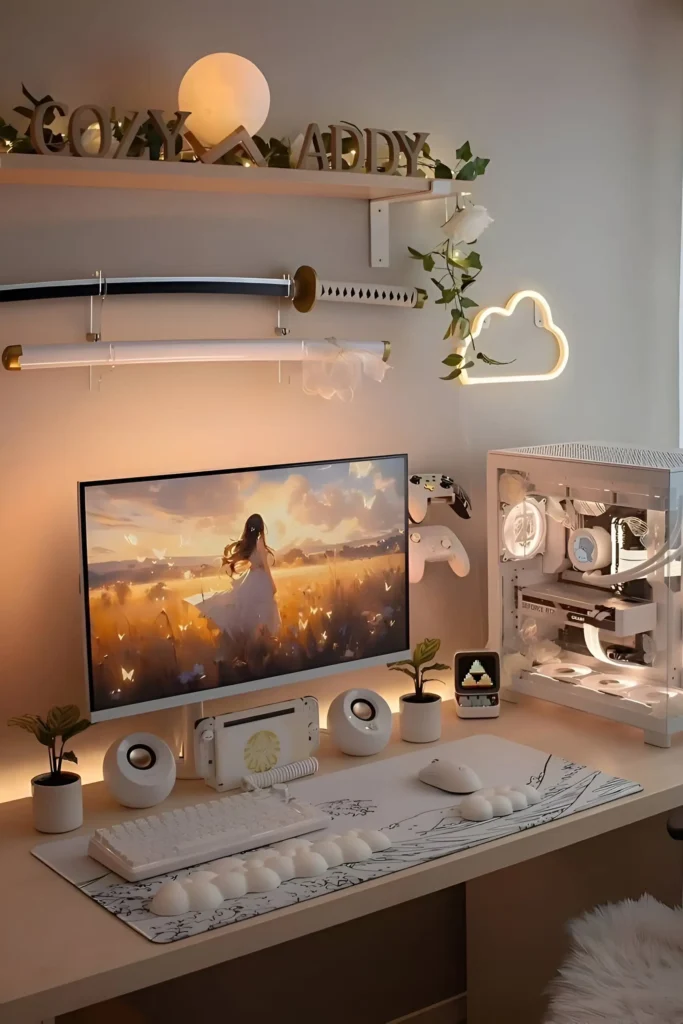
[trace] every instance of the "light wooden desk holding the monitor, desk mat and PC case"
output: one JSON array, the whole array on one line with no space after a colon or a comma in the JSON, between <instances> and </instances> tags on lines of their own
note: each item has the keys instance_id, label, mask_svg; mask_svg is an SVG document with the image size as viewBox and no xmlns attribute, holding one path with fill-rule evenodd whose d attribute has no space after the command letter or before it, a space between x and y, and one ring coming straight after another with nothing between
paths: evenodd
<instances>
[{"instance_id":1,"label":"light wooden desk holding the monitor, desk mat and PC case","mask_svg":"<svg viewBox=\"0 0 683 1024\"><path fill-rule=\"evenodd\" d=\"M524 869L529 861L554 851L566 854L566 848L573 844L596 840L613 829L638 828L637 822L683 804L683 743L675 742L668 751L647 746L642 733L635 729L531 699L523 699L518 706L504 705L501 718L492 721L461 721L456 718L453 705L444 705L442 740L476 732L496 733L635 779L642 783L643 792L474 850L171 945L145 941L30 855L29 851L39 841L31 825L30 801L0 806L0 906L4 933L0 1021L35 1024L461 883L468 883L468 904L471 897L472 907L479 907L477 921L483 924L487 912L484 907L498 891L496 880L504 881L507 869L516 865ZM380 757L413 750L413 744L395 739ZM327 741L319 758L321 770L326 772L358 763L333 751ZM87 824L83 830L129 816L129 811L112 802L101 783L86 786L84 792ZM163 806L181 806L206 795L202 783L179 782ZM658 831L664 833L664 826L659 825ZM671 848L675 852L671 854L670 865L678 857L677 844L672 842ZM643 869L647 862L644 850L638 862ZM575 863L579 863L578 853ZM531 869L539 874L536 865ZM608 873L613 878L613 865ZM660 882L660 878L652 879L655 891L655 883ZM606 883L605 878L604 898L612 898L613 887L610 890ZM680 894L680 874L670 881L669 888L672 886L678 886ZM508 888L504 882L503 891ZM563 887L557 886L560 888ZM601 891L598 900L603 898ZM560 904L558 900L561 912ZM508 914L516 912L510 903L504 910ZM503 942L506 928L502 920L499 926ZM528 922L524 928L528 930ZM468 988L470 1017L475 1024L485 1021L488 1012L474 1009L478 998L475 989L483 985L485 977L484 955L483 952L478 955L478 945L481 943L483 949L492 941L486 932L477 929L468 909ZM490 989L490 985L484 987ZM485 1001L484 997L482 1007Z\"/></svg>"}]
</instances>

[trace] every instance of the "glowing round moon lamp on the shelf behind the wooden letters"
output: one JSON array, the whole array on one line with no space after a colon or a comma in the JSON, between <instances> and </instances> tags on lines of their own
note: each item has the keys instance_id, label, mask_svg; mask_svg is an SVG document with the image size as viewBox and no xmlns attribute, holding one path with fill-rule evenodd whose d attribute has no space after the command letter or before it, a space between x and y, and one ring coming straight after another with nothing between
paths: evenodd
<instances>
[{"instance_id":1,"label":"glowing round moon lamp on the shelf behind the wooden letters","mask_svg":"<svg viewBox=\"0 0 683 1024\"><path fill-rule=\"evenodd\" d=\"M190 111L187 127L211 146L244 125L255 135L268 116L270 90L262 73L238 53L210 53L189 68L178 90L178 109Z\"/></svg>"}]
</instances>

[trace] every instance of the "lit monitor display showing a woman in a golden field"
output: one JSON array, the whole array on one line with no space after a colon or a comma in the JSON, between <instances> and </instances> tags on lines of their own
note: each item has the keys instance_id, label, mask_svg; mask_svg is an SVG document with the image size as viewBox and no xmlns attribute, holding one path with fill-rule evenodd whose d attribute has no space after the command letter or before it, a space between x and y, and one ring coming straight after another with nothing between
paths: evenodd
<instances>
[{"instance_id":1,"label":"lit monitor display showing a woman in a golden field","mask_svg":"<svg viewBox=\"0 0 683 1024\"><path fill-rule=\"evenodd\" d=\"M407 651L407 486L403 455L81 483L92 719Z\"/></svg>"}]
</instances>

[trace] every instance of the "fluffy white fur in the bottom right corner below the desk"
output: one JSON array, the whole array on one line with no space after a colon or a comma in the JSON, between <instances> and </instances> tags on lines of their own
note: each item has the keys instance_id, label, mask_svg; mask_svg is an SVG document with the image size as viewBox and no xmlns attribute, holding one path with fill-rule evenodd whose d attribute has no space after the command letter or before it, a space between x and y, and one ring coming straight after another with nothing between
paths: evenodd
<instances>
[{"instance_id":1,"label":"fluffy white fur in the bottom right corner below the desk","mask_svg":"<svg viewBox=\"0 0 683 1024\"><path fill-rule=\"evenodd\" d=\"M569 926L546 1024L683 1024L683 910L651 896Z\"/></svg>"}]
</instances>

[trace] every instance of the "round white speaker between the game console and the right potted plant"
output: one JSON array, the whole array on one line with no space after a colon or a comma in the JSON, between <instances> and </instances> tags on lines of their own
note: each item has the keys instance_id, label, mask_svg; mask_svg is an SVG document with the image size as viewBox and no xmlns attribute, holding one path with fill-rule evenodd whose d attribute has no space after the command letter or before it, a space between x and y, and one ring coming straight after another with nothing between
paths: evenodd
<instances>
[{"instance_id":1,"label":"round white speaker between the game console and the right potted plant","mask_svg":"<svg viewBox=\"0 0 683 1024\"><path fill-rule=\"evenodd\" d=\"M328 729L344 754L379 754L391 736L391 709L373 690L345 690L330 705Z\"/></svg>"}]
</instances>

